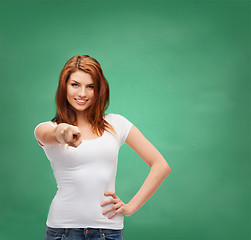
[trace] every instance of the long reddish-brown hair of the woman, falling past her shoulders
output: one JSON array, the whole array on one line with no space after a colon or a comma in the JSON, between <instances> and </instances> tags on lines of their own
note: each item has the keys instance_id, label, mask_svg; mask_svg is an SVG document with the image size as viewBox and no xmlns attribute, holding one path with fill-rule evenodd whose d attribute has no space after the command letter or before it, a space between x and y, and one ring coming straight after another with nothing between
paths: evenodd
<instances>
[{"instance_id":1,"label":"long reddish-brown hair of the woman, falling past her shoulders","mask_svg":"<svg viewBox=\"0 0 251 240\"><path fill-rule=\"evenodd\" d=\"M114 128L104 119L104 112L109 106L108 82L99 62L88 55L74 56L63 67L55 97L57 112L51 121L57 124L68 123L74 126L77 125L75 110L67 100L66 86L71 74L79 70L89 73L94 83L94 102L87 109L87 118L91 123L92 131L98 136L102 136L105 130L111 130L116 134Z\"/></svg>"}]
</instances>

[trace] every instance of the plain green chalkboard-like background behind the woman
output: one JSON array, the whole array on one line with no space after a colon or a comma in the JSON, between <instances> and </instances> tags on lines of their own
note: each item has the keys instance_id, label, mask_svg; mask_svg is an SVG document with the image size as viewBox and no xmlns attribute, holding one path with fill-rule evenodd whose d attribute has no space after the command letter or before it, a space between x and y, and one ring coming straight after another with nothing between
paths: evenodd
<instances>
[{"instance_id":1,"label":"plain green chalkboard-like background behind the woman","mask_svg":"<svg viewBox=\"0 0 251 240\"><path fill-rule=\"evenodd\" d=\"M172 172L125 240L250 239L250 2L1 1L0 239L43 239L56 182L35 126L55 115L65 62L96 58L107 113L137 126ZM120 149L128 202L150 167Z\"/></svg>"}]
</instances>

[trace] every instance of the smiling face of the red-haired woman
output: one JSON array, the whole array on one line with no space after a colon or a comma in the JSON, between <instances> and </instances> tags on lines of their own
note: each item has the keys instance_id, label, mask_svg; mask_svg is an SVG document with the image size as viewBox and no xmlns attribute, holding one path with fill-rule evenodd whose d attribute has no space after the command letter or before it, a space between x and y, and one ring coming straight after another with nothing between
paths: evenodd
<instances>
[{"instance_id":1,"label":"smiling face of the red-haired woman","mask_svg":"<svg viewBox=\"0 0 251 240\"><path fill-rule=\"evenodd\" d=\"M94 83L89 73L78 70L67 81L67 100L77 111L87 110L94 102Z\"/></svg>"}]
</instances>

